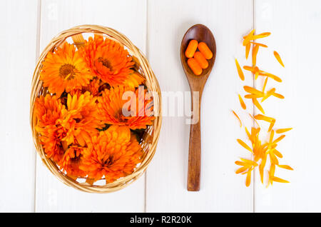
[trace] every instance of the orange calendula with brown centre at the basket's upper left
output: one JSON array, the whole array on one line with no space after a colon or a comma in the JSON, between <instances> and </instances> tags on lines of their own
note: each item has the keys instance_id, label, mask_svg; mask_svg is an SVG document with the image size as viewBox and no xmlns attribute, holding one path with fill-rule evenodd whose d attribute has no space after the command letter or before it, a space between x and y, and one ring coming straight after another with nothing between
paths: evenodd
<instances>
[{"instance_id":1,"label":"orange calendula with brown centre at the basket's upper left","mask_svg":"<svg viewBox=\"0 0 321 227\"><path fill-rule=\"evenodd\" d=\"M49 52L44 60L40 74L44 87L49 92L61 96L66 92L81 89L93 79L78 51L73 44L65 43L54 53Z\"/></svg>"}]
</instances>

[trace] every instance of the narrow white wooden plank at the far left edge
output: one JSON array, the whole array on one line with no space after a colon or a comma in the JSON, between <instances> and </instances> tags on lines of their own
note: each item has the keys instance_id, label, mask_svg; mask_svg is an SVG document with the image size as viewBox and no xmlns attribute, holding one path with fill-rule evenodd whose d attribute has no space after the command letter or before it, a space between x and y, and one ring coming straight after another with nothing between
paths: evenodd
<instances>
[{"instance_id":1,"label":"narrow white wooden plank at the far left edge","mask_svg":"<svg viewBox=\"0 0 321 227\"><path fill-rule=\"evenodd\" d=\"M0 211L34 211L35 150L29 124L38 1L0 1Z\"/></svg>"}]
</instances>

